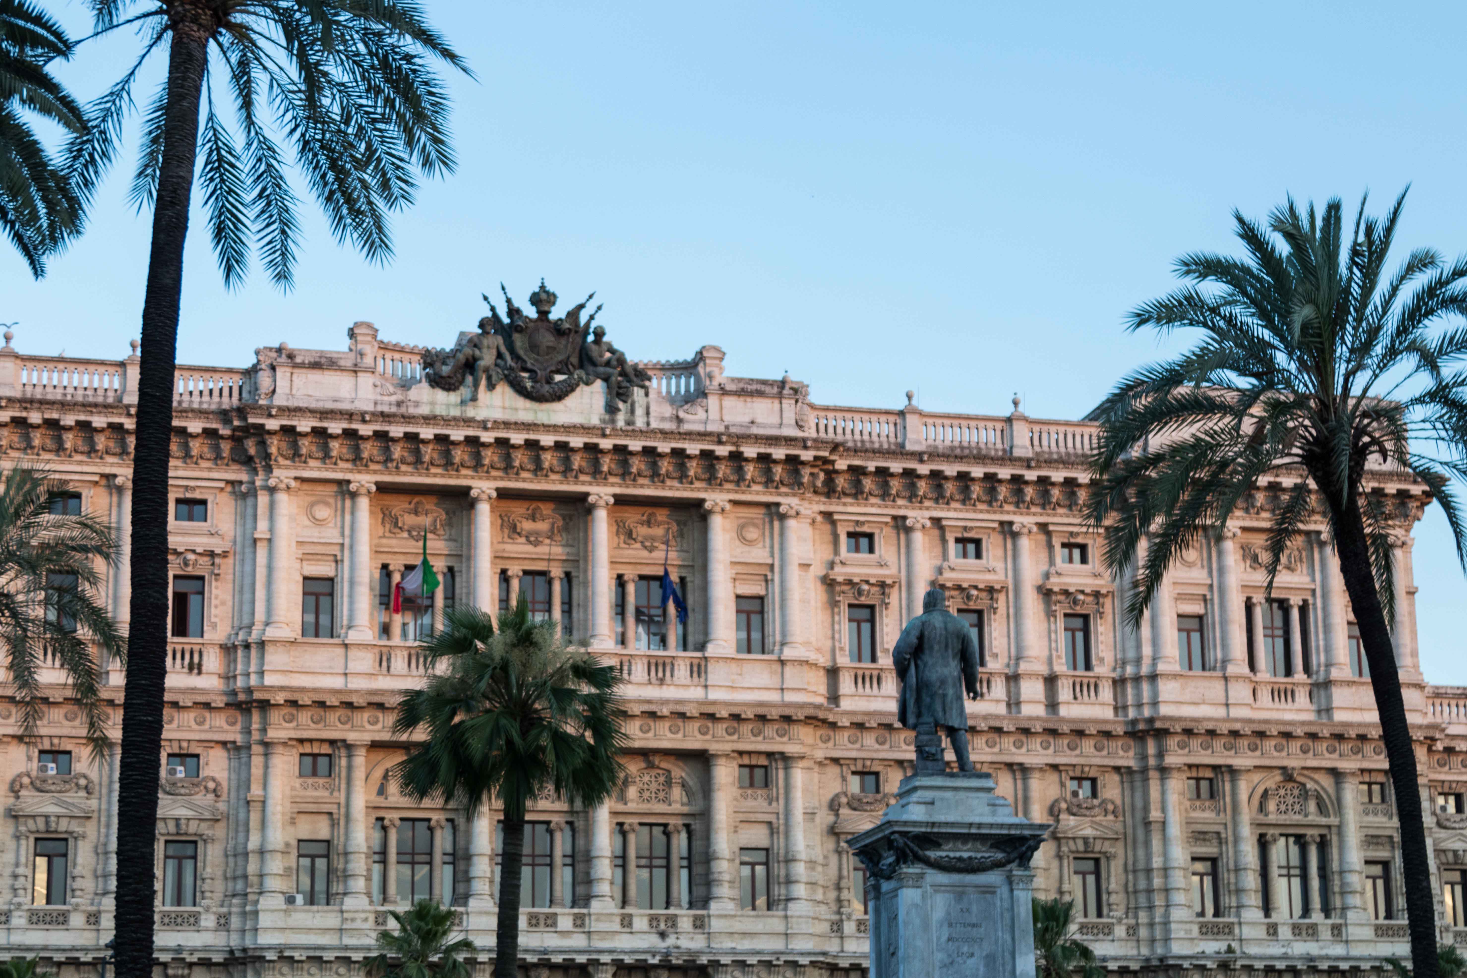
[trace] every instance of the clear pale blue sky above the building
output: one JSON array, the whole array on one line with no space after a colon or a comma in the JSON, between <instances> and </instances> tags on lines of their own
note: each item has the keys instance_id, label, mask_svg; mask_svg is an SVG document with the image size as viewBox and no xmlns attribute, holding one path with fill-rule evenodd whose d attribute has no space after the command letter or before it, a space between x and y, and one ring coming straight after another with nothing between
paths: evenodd
<instances>
[{"instance_id":1,"label":"clear pale blue sky above the building","mask_svg":"<svg viewBox=\"0 0 1467 978\"><path fill-rule=\"evenodd\" d=\"M84 34L79 0L48 3ZM317 218L295 292L230 293L195 223L179 359L345 349L354 320L443 346L503 282L593 289L641 359L704 343L819 403L1074 418L1156 356L1121 318L1234 207L1285 194L1378 208L1413 185L1400 252L1467 251L1460 4L425 4L478 73L453 81L456 174L396 221L386 267ZM91 97L131 37L62 73ZM161 69L161 63L157 66ZM157 73L154 73L154 78ZM92 227L32 283L0 252L26 353L122 356L148 220L133 155ZM1417 529L1426 673L1467 685L1467 585L1445 522Z\"/></svg>"}]
</instances>

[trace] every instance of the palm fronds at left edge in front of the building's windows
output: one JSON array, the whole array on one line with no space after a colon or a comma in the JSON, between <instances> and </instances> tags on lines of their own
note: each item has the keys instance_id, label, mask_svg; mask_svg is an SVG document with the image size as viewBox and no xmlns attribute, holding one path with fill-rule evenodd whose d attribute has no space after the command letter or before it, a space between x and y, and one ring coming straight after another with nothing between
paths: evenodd
<instances>
[{"instance_id":1,"label":"palm fronds at left edge in front of the building's windows","mask_svg":"<svg viewBox=\"0 0 1467 978\"><path fill-rule=\"evenodd\" d=\"M92 647L120 655L125 639L100 600L101 567L116 557L111 529L79 512L65 484L43 469L13 466L0 487L0 644L15 685L22 730L34 736L45 713L41 669L62 667L87 717L94 754L107 743Z\"/></svg>"}]
</instances>

